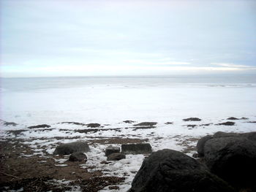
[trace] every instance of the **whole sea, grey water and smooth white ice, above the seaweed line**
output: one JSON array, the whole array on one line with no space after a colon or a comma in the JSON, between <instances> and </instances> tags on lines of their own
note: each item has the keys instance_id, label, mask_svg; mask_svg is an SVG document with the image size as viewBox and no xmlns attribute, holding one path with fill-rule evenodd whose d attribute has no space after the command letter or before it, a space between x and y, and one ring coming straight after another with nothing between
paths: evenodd
<instances>
[{"instance_id":1,"label":"whole sea, grey water and smooth white ice, above the seaweed line","mask_svg":"<svg viewBox=\"0 0 256 192\"><path fill-rule=\"evenodd\" d=\"M254 75L1 78L1 119L113 123L255 116Z\"/></svg>"}]
</instances>

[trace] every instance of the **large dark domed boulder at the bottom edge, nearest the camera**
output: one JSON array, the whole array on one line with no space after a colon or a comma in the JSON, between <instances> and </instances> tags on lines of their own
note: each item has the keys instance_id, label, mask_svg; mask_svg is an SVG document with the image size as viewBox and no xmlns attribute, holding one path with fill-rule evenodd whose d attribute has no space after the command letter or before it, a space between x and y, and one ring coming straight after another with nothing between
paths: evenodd
<instances>
[{"instance_id":1,"label":"large dark domed boulder at the bottom edge, nearest the camera","mask_svg":"<svg viewBox=\"0 0 256 192\"><path fill-rule=\"evenodd\" d=\"M225 181L194 158L175 150L159 150L143 161L129 192L227 192Z\"/></svg>"}]
</instances>

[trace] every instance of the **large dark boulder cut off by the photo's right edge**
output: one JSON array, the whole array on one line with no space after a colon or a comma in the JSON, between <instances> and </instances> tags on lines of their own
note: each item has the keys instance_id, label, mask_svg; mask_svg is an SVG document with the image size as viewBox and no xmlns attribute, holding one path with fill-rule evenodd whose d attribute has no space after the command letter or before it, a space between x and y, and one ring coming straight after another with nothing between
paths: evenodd
<instances>
[{"instance_id":1,"label":"large dark boulder cut off by the photo's right edge","mask_svg":"<svg viewBox=\"0 0 256 192\"><path fill-rule=\"evenodd\" d=\"M256 145L246 137L209 139L204 155L211 172L236 188L255 185Z\"/></svg>"}]
</instances>

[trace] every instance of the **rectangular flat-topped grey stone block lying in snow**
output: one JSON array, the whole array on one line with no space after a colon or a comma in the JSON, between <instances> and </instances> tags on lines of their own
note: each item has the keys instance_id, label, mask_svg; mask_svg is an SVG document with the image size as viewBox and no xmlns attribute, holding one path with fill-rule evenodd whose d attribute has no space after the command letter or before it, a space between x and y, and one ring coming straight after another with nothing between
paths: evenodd
<instances>
[{"instance_id":1,"label":"rectangular flat-topped grey stone block lying in snow","mask_svg":"<svg viewBox=\"0 0 256 192\"><path fill-rule=\"evenodd\" d=\"M148 154L151 152L152 152L152 149L149 143L121 145L121 153L124 153L124 154Z\"/></svg>"}]
</instances>

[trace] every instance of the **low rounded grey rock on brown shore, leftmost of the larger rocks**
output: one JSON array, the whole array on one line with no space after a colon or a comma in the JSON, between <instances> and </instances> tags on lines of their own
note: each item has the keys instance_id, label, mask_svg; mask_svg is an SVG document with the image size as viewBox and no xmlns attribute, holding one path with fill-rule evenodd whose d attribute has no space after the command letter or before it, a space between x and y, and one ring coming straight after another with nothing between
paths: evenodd
<instances>
[{"instance_id":1,"label":"low rounded grey rock on brown shore, leftmost of the larger rocks","mask_svg":"<svg viewBox=\"0 0 256 192\"><path fill-rule=\"evenodd\" d=\"M76 152L88 152L89 145L86 142L69 142L56 147L54 155L69 155Z\"/></svg>"}]
</instances>

